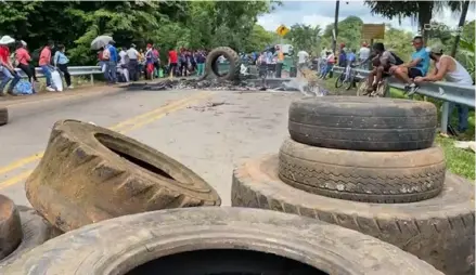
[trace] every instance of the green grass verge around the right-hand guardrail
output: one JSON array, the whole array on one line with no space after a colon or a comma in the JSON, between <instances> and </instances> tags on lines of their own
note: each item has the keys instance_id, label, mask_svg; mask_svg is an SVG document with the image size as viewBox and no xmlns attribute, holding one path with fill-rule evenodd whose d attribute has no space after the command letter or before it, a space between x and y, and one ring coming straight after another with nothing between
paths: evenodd
<instances>
[{"instance_id":1,"label":"green grass verge around the right-hand guardrail","mask_svg":"<svg viewBox=\"0 0 476 275\"><path fill-rule=\"evenodd\" d=\"M335 88L335 77L321 80L321 84L331 92L331 94L338 94L338 95L355 95L356 90L352 89L350 91L345 91L345 89L336 89ZM403 94L403 92L397 90L397 89L390 89L390 96L394 99L408 99L407 95ZM416 95L414 96L414 100L424 100L423 96ZM440 107L441 102L427 99L429 102L434 103L438 109L438 118L440 117ZM439 119L438 119L439 121ZM456 113L454 112L451 121L453 125L458 121ZM438 135L435 140L435 142L441 146L441 148L445 152L445 157L447 160L447 168L450 172L459 174L461 176L464 176L469 180L475 180L475 153L472 150L466 150L462 148L458 148L454 146L454 143L458 141L474 141L475 140L475 112L469 112L469 119L468 119L468 130L459 136L455 138L445 138L441 135Z\"/></svg>"}]
</instances>

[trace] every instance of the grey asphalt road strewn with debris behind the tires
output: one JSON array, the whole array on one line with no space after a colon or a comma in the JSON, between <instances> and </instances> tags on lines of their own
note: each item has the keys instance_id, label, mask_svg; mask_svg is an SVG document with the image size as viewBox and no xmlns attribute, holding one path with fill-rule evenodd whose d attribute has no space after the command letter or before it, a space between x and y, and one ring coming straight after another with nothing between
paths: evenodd
<instances>
[{"instance_id":1,"label":"grey asphalt road strewn with debris behind the tires","mask_svg":"<svg viewBox=\"0 0 476 275\"><path fill-rule=\"evenodd\" d=\"M0 194L29 205L24 182L41 159L51 127L60 119L78 119L168 154L209 182L229 206L233 167L279 150L287 135L287 107L298 97L292 92L101 88L14 101L10 123L0 127Z\"/></svg>"}]
</instances>

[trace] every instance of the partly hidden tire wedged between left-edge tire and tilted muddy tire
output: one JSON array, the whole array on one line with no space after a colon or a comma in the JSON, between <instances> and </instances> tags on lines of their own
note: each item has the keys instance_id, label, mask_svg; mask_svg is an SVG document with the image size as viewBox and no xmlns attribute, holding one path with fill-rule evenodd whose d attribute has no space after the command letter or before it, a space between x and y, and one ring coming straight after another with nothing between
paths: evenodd
<instances>
[{"instance_id":1,"label":"partly hidden tire wedged between left-edge tire and tilted muddy tire","mask_svg":"<svg viewBox=\"0 0 476 275\"><path fill-rule=\"evenodd\" d=\"M0 260L0 266L14 262L23 253L61 234L35 209L25 206L17 206L17 209L22 220L23 238L20 246L12 253Z\"/></svg>"}]
</instances>

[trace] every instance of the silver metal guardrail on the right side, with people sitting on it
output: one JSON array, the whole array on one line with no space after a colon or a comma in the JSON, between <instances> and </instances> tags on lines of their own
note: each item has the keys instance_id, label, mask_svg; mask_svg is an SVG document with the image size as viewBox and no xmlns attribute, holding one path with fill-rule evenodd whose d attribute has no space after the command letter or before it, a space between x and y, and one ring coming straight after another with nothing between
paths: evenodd
<instances>
[{"instance_id":1,"label":"silver metal guardrail on the right side, with people sitting on it","mask_svg":"<svg viewBox=\"0 0 476 275\"><path fill-rule=\"evenodd\" d=\"M343 73L344 67L335 66L335 73ZM363 79L369 76L369 70L352 68L357 75L356 77ZM404 84L394 77L387 78L388 84L398 90L404 90ZM450 102L463 104L469 107L475 107L475 87L474 86L459 86L449 82L436 81L425 82L419 86L417 94L426 95L433 99L443 101L441 109L441 132L446 133L448 129L448 117Z\"/></svg>"}]
</instances>

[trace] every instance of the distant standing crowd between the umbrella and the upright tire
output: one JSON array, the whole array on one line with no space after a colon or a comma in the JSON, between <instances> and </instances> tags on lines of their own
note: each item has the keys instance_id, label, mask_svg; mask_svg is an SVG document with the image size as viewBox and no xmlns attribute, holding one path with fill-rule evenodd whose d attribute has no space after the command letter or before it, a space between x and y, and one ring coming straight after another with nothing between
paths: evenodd
<instances>
[{"instance_id":1,"label":"distant standing crowd between the umbrella and the upright tire","mask_svg":"<svg viewBox=\"0 0 476 275\"><path fill-rule=\"evenodd\" d=\"M149 43L145 49L136 44L115 47L115 41L98 52L98 61L108 83L138 81L142 77L154 79L164 76L203 76L207 56L205 50L169 49L166 62L160 58L160 49Z\"/></svg>"}]
</instances>

